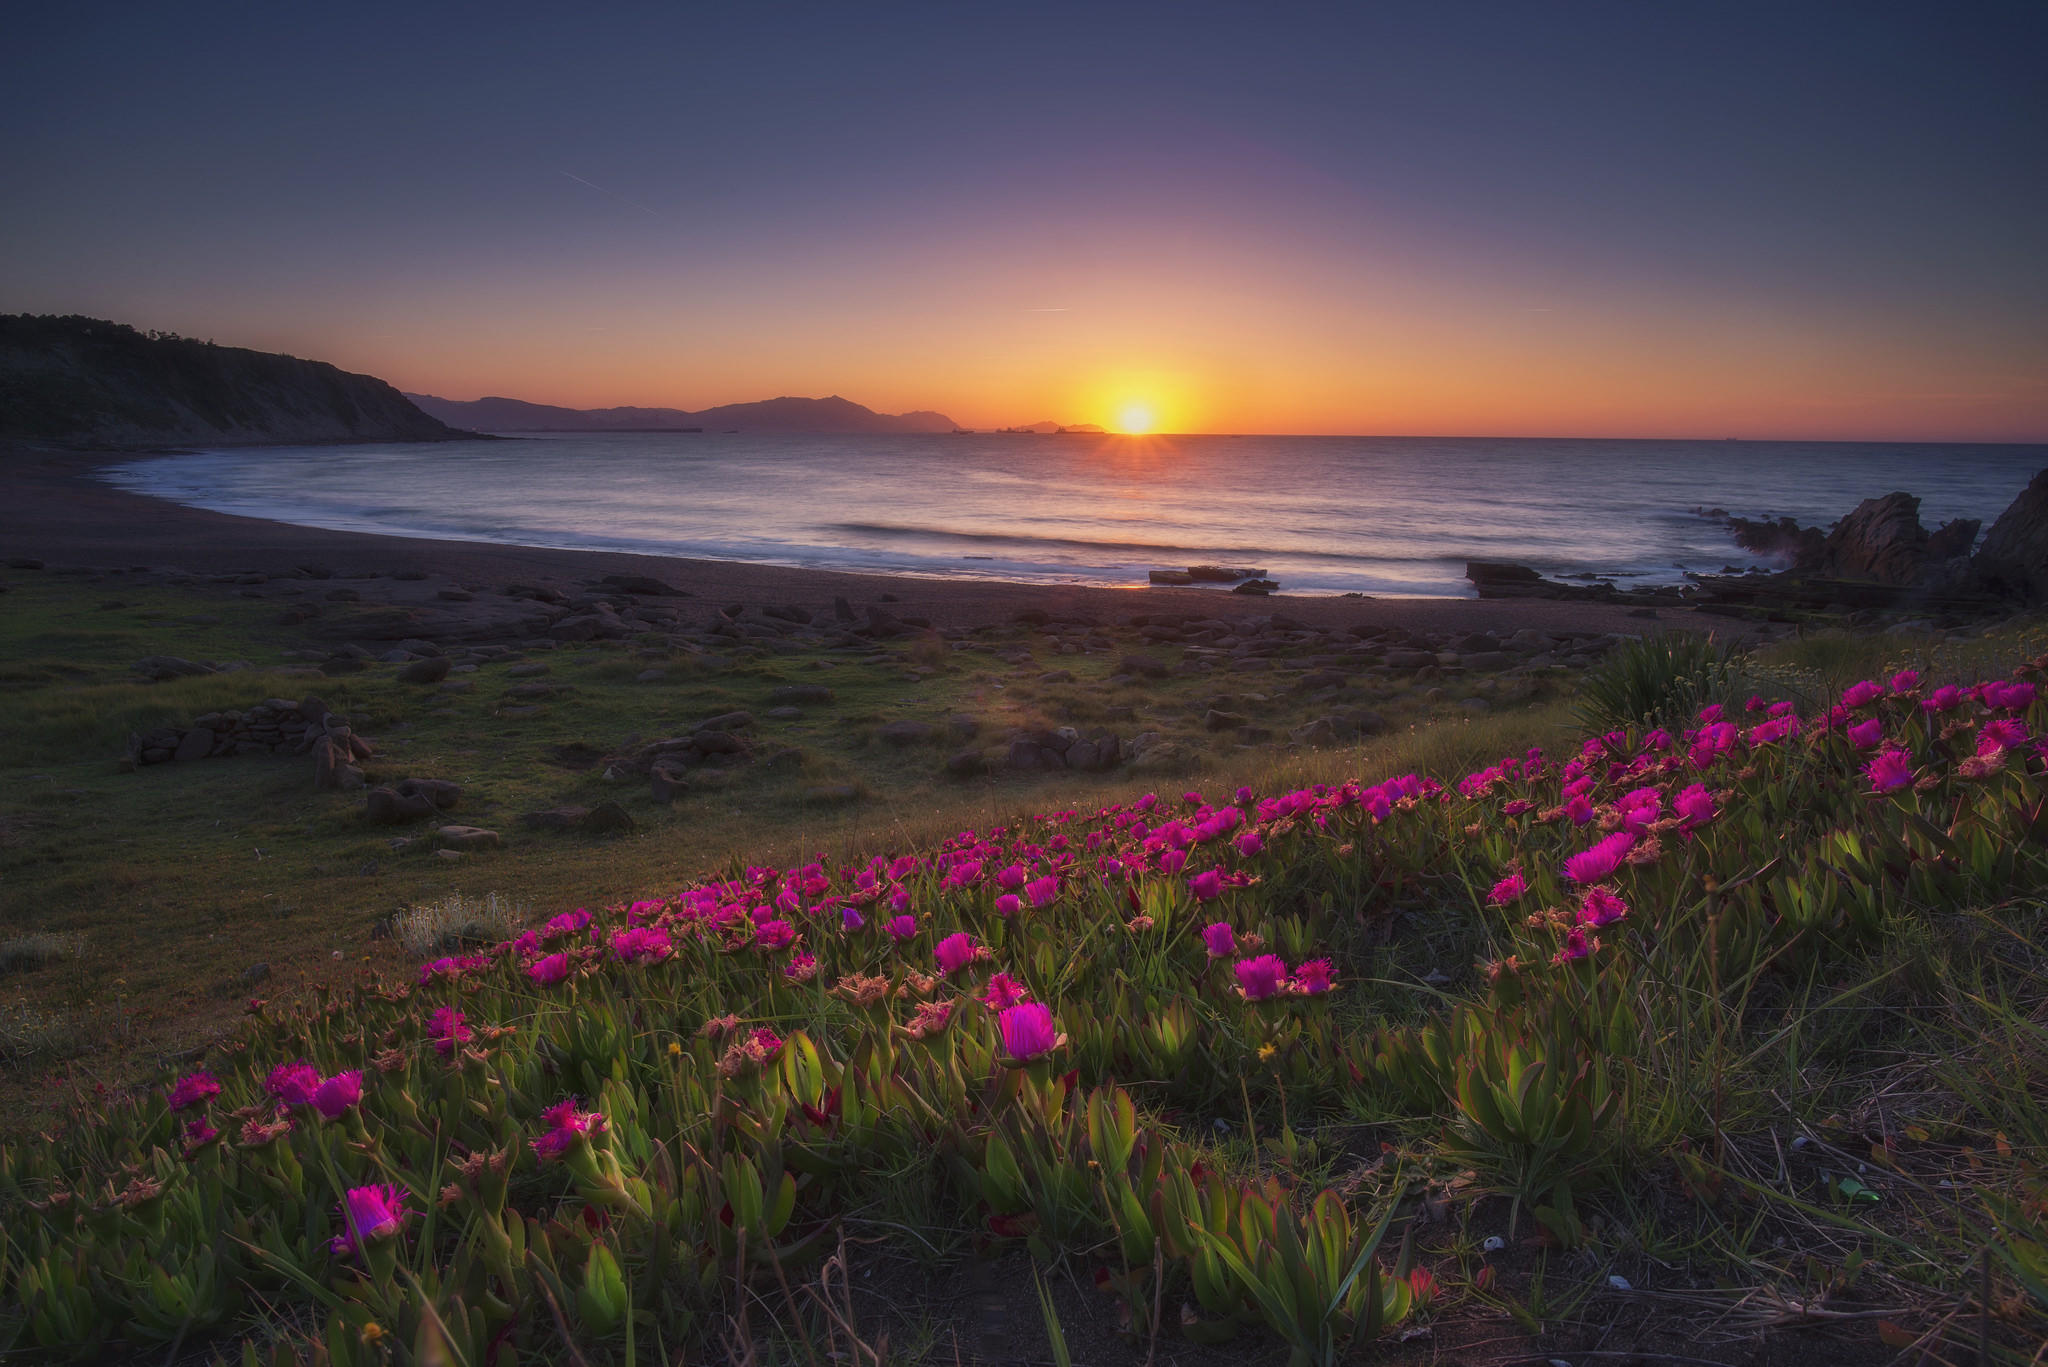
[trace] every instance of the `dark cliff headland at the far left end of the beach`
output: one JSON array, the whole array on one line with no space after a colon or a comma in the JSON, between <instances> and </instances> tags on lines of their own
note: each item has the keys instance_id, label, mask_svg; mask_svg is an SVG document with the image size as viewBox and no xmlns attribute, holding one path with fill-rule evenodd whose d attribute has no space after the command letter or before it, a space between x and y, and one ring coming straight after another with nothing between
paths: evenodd
<instances>
[{"instance_id":1,"label":"dark cliff headland at the far left end of the beach","mask_svg":"<svg viewBox=\"0 0 2048 1367\"><path fill-rule=\"evenodd\" d=\"M96 318L0 316L0 437L76 447L455 441L371 375Z\"/></svg>"}]
</instances>

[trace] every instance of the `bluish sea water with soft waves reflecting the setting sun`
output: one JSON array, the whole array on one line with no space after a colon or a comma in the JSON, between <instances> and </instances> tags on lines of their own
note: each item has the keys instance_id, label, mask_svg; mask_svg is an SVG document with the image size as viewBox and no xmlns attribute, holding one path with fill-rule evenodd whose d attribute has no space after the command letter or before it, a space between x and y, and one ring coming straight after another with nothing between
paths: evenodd
<instances>
[{"instance_id":1,"label":"bluish sea water with soft waves reflecting the setting sun","mask_svg":"<svg viewBox=\"0 0 2048 1367\"><path fill-rule=\"evenodd\" d=\"M199 451L104 478L401 537L1077 584L1208 562L1282 592L1468 596L1466 560L1636 584L1755 564L1698 508L1825 525L1907 490L1927 527L1989 527L2044 465L2048 445L621 432Z\"/></svg>"}]
</instances>

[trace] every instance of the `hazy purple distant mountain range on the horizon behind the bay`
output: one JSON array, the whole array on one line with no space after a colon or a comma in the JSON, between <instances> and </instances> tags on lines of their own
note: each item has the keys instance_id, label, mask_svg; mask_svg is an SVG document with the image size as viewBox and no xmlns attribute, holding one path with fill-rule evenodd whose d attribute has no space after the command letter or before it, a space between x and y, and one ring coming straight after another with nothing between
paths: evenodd
<instances>
[{"instance_id":1,"label":"hazy purple distant mountain range on the horizon behind the bay","mask_svg":"<svg viewBox=\"0 0 2048 1367\"><path fill-rule=\"evenodd\" d=\"M684 408L555 408L524 400L442 400L408 393L422 412L473 432L950 432L940 412L881 414L840 396L823 400L778 398L758 404Z\"/></svg>"}]
</instances>

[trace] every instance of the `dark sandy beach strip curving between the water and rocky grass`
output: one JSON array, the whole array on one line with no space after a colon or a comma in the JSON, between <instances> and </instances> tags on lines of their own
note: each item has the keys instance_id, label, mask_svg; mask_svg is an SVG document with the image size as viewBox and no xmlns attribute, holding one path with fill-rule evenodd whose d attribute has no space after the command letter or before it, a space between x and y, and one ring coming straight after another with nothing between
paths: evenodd
<instances>
[{"instance_id":1,"label":"dark sandy beach strip curving between the water and rocky grass","mask_svg":"<svg viewBox=\"0 0 2048 1367\"><path fill-rule=\"evenodd\" d=\"M1346 598L1251 596L1204 588L1104 588L1090 584L1028 584L1016 580L924 578L860 574L735 560L690 560L633 551L522 547L498 541L449 541L385 533L328 531L295 523L209 512L131 494L96 478L158 451L68 451L0 443L0 560L33 557L51 568L184 570L195 574L293 576L305 564L332 568L338 580L389 584L393 572L424 574L408 586L446 584L502 588L508 582L582 586L606 574L664 580L707 607L799 603L829 607L889 603L897 615L920 615L934 627L1006 623L1020 611L1180 613L1214 619L1286 613L1313 625L1384 625L1434 631L1645 633L1665 629L1753 637L1757 629L1694 609L1640 609L1548 598ZM379 594L383 596L383 594ZM412 596L412 594L408 594ZM432 592L428 592L432 596Z\"/></svg>"}]
</instances>

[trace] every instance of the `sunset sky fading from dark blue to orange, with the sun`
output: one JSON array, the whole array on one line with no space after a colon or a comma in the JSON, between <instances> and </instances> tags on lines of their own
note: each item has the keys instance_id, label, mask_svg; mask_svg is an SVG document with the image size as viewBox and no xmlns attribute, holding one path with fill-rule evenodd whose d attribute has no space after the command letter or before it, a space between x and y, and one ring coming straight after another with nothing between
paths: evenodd
<instances>
[{"instance_id":1,"label":"sunset sky fading from dark blue to orange, with the sun","mask_svg":"<svg viewBox=\"0 0 2048 1367\"><path fill-rule=\"evenodd\" d=\"M2048 439L2048 4L29 6L0 312L596 408Z\"/></svg>"}]
</instances>

